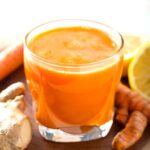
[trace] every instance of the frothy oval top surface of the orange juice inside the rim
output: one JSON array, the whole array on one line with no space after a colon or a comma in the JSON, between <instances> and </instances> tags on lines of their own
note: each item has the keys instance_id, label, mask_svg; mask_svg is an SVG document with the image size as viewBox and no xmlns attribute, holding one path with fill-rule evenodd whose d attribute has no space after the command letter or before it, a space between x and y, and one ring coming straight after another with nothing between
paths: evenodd
<instances>
[{"instance_id":1,"label":"frothy oval top surface of the orange juice inside the rim","mask_svg":"<svg viewBox=\"0 0 150 150\"><path fill-rule=\"evenodd\" d=\"M33 38L29 48L59 65L82 65L107 58L117 49L105 32L84 27L50 30Z\"/></svg>"}]
</instances>

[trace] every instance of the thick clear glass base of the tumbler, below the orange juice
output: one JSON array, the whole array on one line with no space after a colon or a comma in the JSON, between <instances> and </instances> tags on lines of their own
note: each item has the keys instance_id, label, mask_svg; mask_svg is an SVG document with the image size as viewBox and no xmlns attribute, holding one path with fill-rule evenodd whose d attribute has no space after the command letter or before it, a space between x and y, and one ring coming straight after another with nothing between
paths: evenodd
<instances>
[{"instance_id":1,"label":"thick clear glass base of the tumbler, below the orange juice","mask_svg":"<svg viewBox=\"0 0 150 150\"><path fill-rule=\"evenodd\" d=\"M90 141L105 137L113 121L109 121L101 126L92 127L69 127L61 129L50 129L45 126L39 125L40 134L49 141L54 142L80 142Z\"/></svg>"}]
</instances>

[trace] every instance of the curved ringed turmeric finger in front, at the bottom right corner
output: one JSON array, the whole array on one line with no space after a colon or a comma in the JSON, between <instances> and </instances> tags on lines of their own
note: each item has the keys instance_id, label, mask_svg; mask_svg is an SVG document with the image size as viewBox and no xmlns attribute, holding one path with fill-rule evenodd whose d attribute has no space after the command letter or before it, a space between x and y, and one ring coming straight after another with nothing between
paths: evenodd
<instances>
[{"instance_id":1,"label":"curved ringed turmeric finger in front, at the bottom right corner","mask_svg":"<svg viewBox=\"0 0 150 150\"><path fill-rule=\"evenodd\" d=\"M125 128L113 139L115 150L125 150L135 144L142 136L147 125L147 118L141 112L132 112Z\"/></svg>"}]
</instances>

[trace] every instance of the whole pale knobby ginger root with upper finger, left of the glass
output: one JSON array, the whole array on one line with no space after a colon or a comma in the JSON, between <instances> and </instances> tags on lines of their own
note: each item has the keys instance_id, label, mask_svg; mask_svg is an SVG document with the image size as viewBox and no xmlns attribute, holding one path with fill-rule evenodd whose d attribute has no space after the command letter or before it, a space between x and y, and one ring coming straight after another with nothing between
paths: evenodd
<instances>
[{"instance_id":1,"label":"whole pale knobby ginger root with upper finger, left of the glass","mask_svg":"<svg viewBox=\"0 0 150 150\"><path fill-rule=\"evenodd\" d=\"M0 150L23 150L32 130L25 109L23 83L15 83L0 93ZM7 97L7 98L6 98Z\"/></svg>"}]
</instances>

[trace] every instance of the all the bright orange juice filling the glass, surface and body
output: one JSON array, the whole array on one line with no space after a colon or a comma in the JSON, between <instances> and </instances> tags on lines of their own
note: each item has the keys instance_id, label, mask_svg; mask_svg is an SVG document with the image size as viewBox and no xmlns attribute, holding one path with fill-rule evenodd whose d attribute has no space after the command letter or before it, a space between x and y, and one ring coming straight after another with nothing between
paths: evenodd
<instances>
[{"instance_id":1,"label":"all the bright orange juice filling the glass, surface and body","mask_svg":"<svg viewBox=\"0 0 150 150\"><path fill-rule=\"evenodd\" d=\"M112 120L122 57L103 67L85 69L115 53L117 45L105 32L59 28L34 37L28 47L47 62L57 64L44 64L25 53L26 77L37 105L36 118L42 125L99 126ZM77 68L67 69L69 65Z\"/></svg>"}]
</instances>

